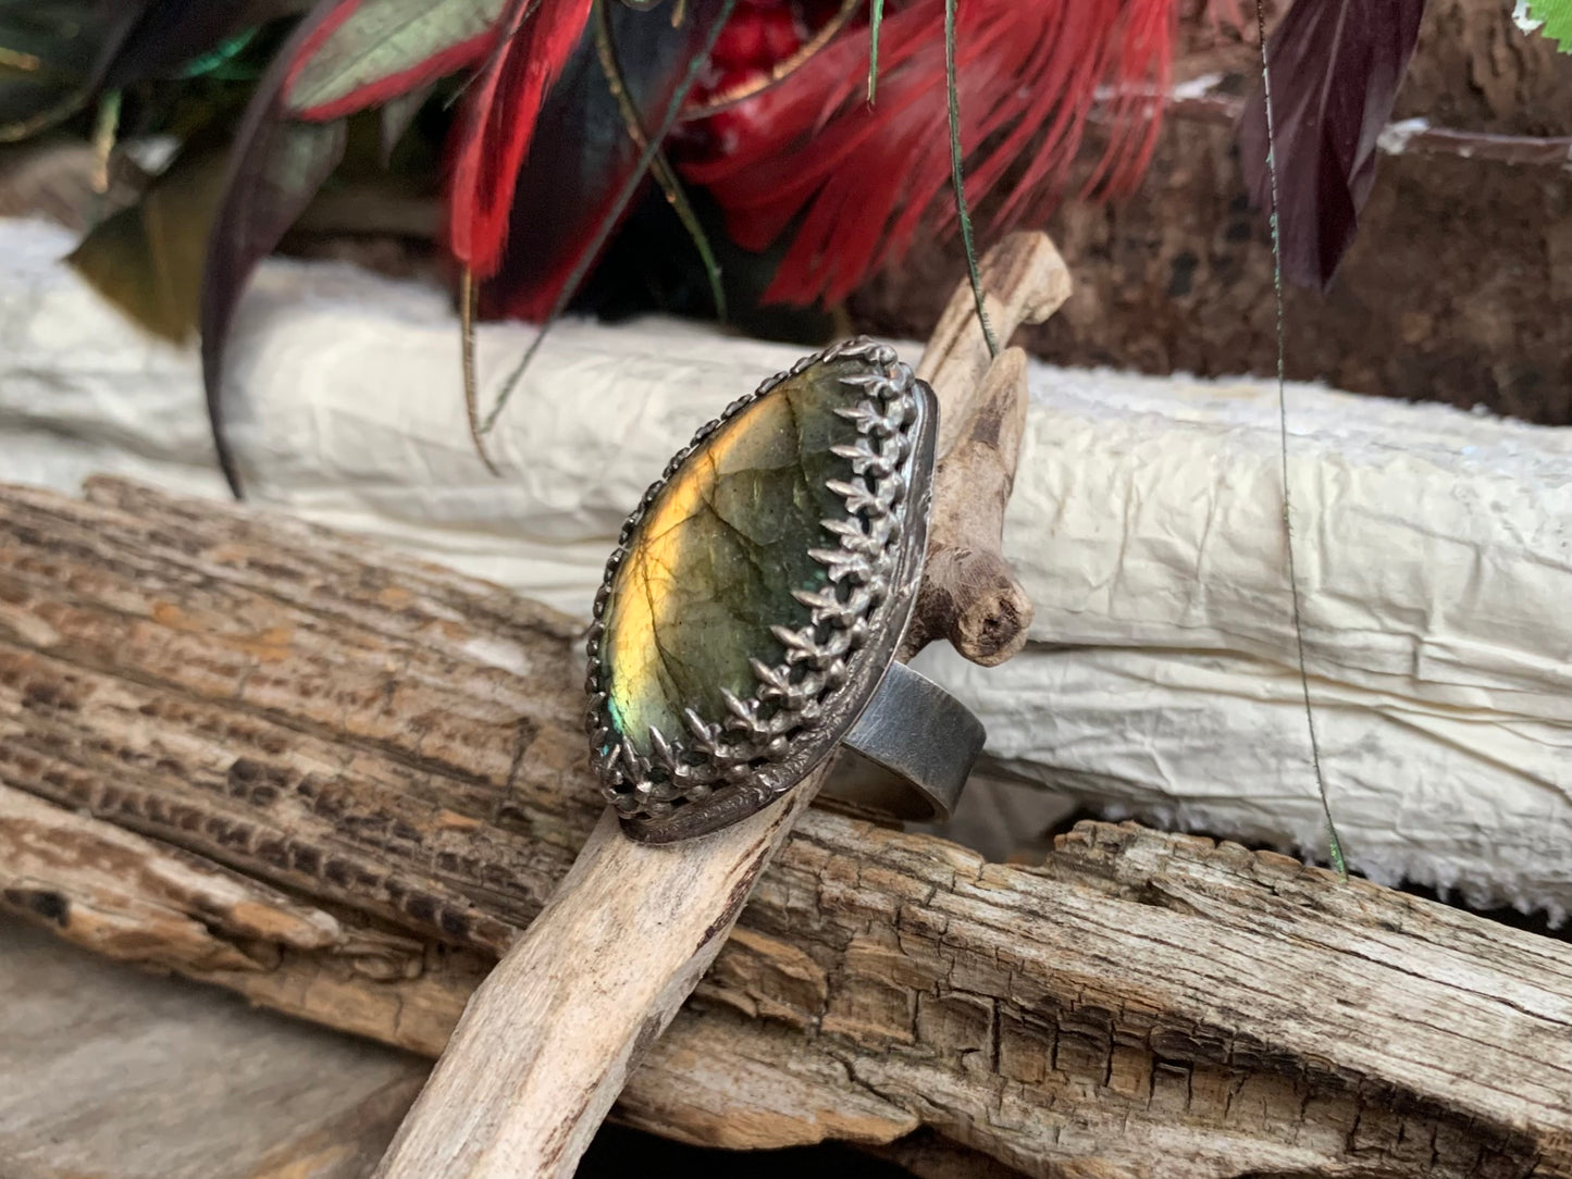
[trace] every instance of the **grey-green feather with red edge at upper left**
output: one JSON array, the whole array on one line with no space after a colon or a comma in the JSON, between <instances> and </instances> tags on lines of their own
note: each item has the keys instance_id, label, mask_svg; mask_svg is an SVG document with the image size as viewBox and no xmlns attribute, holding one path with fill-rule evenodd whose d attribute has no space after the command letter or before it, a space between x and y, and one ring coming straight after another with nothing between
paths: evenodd
<instances>
[{"instance_id":1,"label":"grey-green feather with red edge at upper left","mask_svg":"<svg viewBox=\"0 0 1572 1179\"><path fill-rule=\"evenodd\" d=\"M347 113L343 104L371 105L451 72L442 68L443 55L495 25L505 6L506 0L363 0L300 63L285 88L285 108ZM421 72L428 64L432 77Z\"/></svg>"}]
</instances>

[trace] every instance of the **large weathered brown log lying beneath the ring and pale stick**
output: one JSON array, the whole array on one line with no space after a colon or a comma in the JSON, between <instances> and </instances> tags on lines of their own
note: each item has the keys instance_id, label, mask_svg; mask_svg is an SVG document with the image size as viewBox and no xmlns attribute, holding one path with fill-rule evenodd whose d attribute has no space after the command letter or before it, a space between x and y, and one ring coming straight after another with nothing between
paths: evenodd
<instances>
[{"instance_id":1,"label":"large weathered brown log lying beneath the ring and pale stick","mask_svg":"<svg viewBox=\"0 0 1572 1179\"><path fill-rule=\"evenodd\" d=\"M0 894L434 1056L599 814L575 627L244 509L0 492ZM110 935L110 931L113 935ZM1563 943L1237 846L808 811L619 1116L1031 1174L1566 1176Z\"/></svg>"}]
</instances>

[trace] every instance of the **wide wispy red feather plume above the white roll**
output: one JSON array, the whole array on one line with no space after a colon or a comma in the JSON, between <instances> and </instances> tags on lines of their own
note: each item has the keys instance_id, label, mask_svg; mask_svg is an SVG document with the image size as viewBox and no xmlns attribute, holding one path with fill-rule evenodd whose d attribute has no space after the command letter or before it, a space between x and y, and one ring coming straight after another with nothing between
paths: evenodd
<instances>
[{"instance_id":1,"label":"wide wispy red feather plume above the white roll","mask_svg":"<svg viewBox=\"0 0 1572 1179\"><path fill-rule=\"evenodd\" d=\"M751 99L750 134L729 152L684 168L709 185L745 248L762 250L797 223L767 299L843 299L904 253L924 222L954 231L945 195L943 11L943 0L912 0L885 17L876 107L865 101L863 27ZM975 206L1023 162L997 220L1045 212L1099 99L1111 108L1113 130L1086 189L1130 189L1155 146L1176 19L1177 0L960 3L956 77L968 201Z\"/></svg>"}]
</instances>

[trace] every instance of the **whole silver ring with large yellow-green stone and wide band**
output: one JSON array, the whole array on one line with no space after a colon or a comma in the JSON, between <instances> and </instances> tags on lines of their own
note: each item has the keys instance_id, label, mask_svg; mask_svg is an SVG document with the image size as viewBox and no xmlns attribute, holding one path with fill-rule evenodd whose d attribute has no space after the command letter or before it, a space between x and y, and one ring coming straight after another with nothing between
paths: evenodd
<instances>
[{"instance_id":1,"label":"whole silver ring with large yellow-green stone and wide band","mask_svg":"<svg viewBox=\"0 0 1572 1179\"><path fill-rule=\"evenodd\" d=\"M934 390L858 338L734 401L645 492L596 594L585 684L591 761L627 835L720 830L838 745L858 756L833 792L949 816L982 723L894 662L937 431Z\"/></svg>"}]
</instances>

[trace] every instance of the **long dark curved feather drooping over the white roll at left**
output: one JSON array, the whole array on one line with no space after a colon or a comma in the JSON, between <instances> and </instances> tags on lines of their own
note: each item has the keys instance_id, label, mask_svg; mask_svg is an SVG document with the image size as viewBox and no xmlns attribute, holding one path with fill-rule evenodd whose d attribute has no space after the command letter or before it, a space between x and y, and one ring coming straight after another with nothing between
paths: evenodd
<instances>
[{"instance_id":1,"label":"long dark curved feather drooping over the white roll at left","mask_svg":"<svg viewBox=\"0 0 1572 1179\"><path fill-rule=\"evenodd\" d=\"M241 479L223 437L223 347L245 285L344 156L344 123L286 118L280 91L289 64L335 0L322 0L263 75L241 119L223 198L208 237L201 286L201 362L219 465L239 498Z\"/></svg>"}]
</instances>

